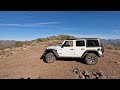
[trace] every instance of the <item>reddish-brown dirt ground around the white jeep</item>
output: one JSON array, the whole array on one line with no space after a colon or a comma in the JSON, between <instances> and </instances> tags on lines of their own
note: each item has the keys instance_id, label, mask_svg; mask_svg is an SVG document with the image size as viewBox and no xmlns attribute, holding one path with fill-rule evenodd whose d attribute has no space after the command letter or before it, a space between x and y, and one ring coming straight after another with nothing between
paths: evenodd
<instances>
[{"instance_id":1,"label":"reddish-brown dirt ground around the white jeep","mask_svg":"<svg viewBox=\"0 0 120 90\"><path fill-rule=\"evenodd\" d=\"M120 79L120 51L105 49L104 57L96 65L87 65L82 59L57 59L45 63L40 56L48 46L62 41L52 40L32 43L29 46L0 51L0 79L96 79L91 76L101 72L101 79ZM84 76L81 73L86 72ZM99 77L99 76L98 76Z\"/></svg>"}]
</instances>

